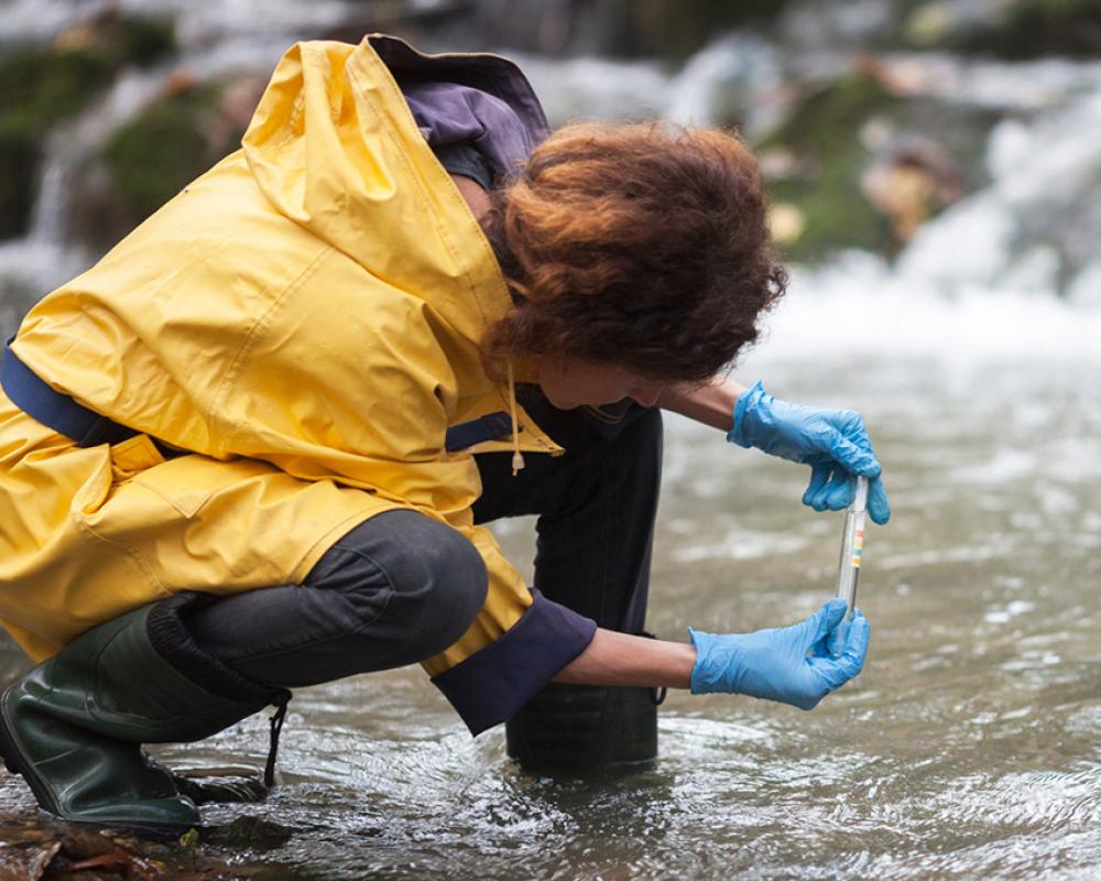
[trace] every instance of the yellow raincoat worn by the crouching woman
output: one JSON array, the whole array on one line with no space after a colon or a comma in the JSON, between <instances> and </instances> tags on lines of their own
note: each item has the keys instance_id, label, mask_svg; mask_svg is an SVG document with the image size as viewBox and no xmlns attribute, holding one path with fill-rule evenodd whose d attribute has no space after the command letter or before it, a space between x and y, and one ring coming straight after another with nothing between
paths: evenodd
<instances>
[{"instance_id":1,"label":"yellow raincoat worn by the crouching woman","mask_svg":"<svg viewBox=\"0 0 1101 881\"><path fill-rule=\"evenodd\" d=\"M372 40L292 47L243 149L23 320L20 360L145 433L80 448L0 395L0 623L35 660L174 591L298 584L395 508L489 569L429 674L531 606L473 525L472 450L444 448L448 426L515 406L479 351L511 301ZM517 418L523 449L560 453ZM150 436L192 453L165 460Z\"/></svg>"}]
</instances>

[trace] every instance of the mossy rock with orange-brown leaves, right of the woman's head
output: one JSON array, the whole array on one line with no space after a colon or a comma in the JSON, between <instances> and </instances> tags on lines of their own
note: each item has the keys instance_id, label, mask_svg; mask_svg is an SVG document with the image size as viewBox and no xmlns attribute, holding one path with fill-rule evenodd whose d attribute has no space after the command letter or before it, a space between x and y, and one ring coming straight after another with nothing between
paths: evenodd
<instances>
[{"instance_id":1,"label":"mossy rock with orange-brown leaves, right of the woman's head","mask_svg":"<svg viewBox=\"0 0 1101 881\"><path fill-rule=\"evenodd\" d=\"M848 248L893 257L928 218L989 180L992 111L915 94L872 56L805 89L759 145L772 200L802 216L783 227L787 241L777 239L793 260Z\"/></svg>"}]
</instances>

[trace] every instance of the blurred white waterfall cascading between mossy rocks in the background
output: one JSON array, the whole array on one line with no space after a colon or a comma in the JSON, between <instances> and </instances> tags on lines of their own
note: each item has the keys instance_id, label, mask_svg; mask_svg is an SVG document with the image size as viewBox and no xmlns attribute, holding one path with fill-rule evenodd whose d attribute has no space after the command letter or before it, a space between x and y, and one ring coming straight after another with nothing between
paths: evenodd
<instances>
[{"instance_id":1,"label":"blurred white waterfall cascading between mossy rocks in the background","mask_svg":"<svg viewBox=\"0 0 1101 881\"><path fill-rule=\"evenodd\" d=\"M497 0L399 4L408 15L473 9L471 22L497 6ZM95 0L11 0L0 7L0 44L48 39L103 7ZM81 185L84 160L162 94L167 77L179 70L195 80L230 72L263 74L294 39L370 18L363 4L350 0L118 0L115 7L172 14L179 54L154 69L124 72L96 106L47 139L31 230L23 239L0 243L3 328L34 298L95 260L96 254L72 240L67 196ZM528 15L538 12L535 7L524 9ZM565 13L559 9L556 14ZM456 32L456 21L453 14L446 33ZM602 26L610 29L608 22ZM466 34L462 40L476 37ZM525 69L555 124L664 117L697 124L737 122L755 139L788 112L793 79L844 70L851 63L849 55L828 44L814 53L793 53L780 39L730 33L679 69L658 61L504 52ZM1101 304L1101 258L1094 246L1101 240L1101 63L1006 63L896 53L881 55L877 64L902 94L1003 116L984 157L990 184L926 222L894 264L870 254L839 254L825 267L799 270L792 298L799 296L800 287L814 286L820 302L829 300L821 292L833 292L837 308L846 309L855 308L859 297L868 309L872 303L882 308L895 296L898 308L904 301L937 296L956 303L988 295L1006 303L1037 296L1054 303L1061 297L1057 311L1067 304L1082 311ZM857 300L850 302L850 296ZM815 307L805 314L811 313ZM890 324L884 318L884 326ZM1075 336L1077 330L1069 333Z\"/></svg>"}]
</instances>

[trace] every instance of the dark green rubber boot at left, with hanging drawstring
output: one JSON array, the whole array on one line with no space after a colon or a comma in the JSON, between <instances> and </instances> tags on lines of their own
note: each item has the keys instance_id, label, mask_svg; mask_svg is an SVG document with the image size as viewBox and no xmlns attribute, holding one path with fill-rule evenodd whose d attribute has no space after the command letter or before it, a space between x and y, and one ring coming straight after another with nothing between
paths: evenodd
<instances>
[{"instance_id":1,"label":"dark green rubber boot at left, with hanging drawstring","mask_svg":"<svg viewBox=\"0 0 1101 881\"><path fill-rule=\"evenodd\" d=\"M200 824L195 803L141 744L201 740L270 704L282 721L290 692L244 678L187 633L183 614L207 599L178 594L99 624L0 695L0 751L44 811L184 831Z\"/></svg>"}]
</instances>

